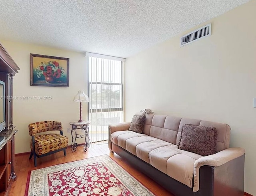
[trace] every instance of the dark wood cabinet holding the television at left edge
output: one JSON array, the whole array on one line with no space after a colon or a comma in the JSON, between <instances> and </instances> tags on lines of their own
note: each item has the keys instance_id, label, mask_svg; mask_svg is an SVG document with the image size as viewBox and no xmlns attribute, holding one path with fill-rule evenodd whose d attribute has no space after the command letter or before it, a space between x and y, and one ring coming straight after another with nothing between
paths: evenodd
<instances>
[{"instance_id":1,"label":"dark wood cabinet holding the television at left edge","mask_svg":"<svg viewBox=\"0 0 256 196\"><path fill-rule=\"evenodd\" d=\"M0 145L0 196L8 196L12 182L16 180L14 172L14 135L17 130L12 121L13 105L13 77L19 67L12 57L0 44L0 80L5 83L5 125L6 129L0 132L5 141Z\"/></svg>"}]
</instances>

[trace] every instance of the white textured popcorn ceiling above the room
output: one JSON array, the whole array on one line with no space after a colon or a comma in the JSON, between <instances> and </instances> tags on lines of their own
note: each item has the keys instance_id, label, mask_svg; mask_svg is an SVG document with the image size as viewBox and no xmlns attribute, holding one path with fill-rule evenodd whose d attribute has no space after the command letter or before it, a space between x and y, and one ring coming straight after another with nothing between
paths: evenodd
<instances>
[{"instance_id":1,"label":"white textured popcorn ceiling above the room","mask_svg":"<svg viewBox=\"0 0 256 196\"><path fill-rule=\"evenodd\" d=\"M249 0L0 0L0 38L129 57Z\"/></svg>"}]
</instances>

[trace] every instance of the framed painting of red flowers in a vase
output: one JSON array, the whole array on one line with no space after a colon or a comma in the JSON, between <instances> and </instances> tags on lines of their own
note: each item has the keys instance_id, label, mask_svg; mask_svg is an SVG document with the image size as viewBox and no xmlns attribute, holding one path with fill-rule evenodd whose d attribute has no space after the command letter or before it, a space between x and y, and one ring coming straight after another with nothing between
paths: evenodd
<instances>
[{"instance_id":1,"label":"framed painting of red flowers in a vase","mask_svg":"<svg viewBox=\"0 0 256 196\"><path fill-rule=\"evenodd\" d=\"M30 85L69 87L69 58L30 54Z\"/></svg>"}]
</instances>

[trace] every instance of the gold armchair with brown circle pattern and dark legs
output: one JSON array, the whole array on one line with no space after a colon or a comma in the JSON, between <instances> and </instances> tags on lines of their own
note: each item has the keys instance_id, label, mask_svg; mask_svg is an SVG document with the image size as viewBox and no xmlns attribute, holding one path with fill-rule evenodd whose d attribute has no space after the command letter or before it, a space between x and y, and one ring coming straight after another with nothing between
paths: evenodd
<instances>
[{"instance_id":1,"label":"gold armchair with brown circle pattern and dark legs","mask_svg":"<svg viewBox=\"0 0 256 196\"><path fill-rule=\"evenodd\" d=\"M47 156L55 152L64 151L68 147L68 137L63 135L62 125L57 121L42 121L28 125L29 135L32 137L30 142L31 154L29 159L34 155L34 165L37 166L36 157ZM38 135L46 131L60 131L60 134L49 133Z\"/></svg>"}]
</instances>

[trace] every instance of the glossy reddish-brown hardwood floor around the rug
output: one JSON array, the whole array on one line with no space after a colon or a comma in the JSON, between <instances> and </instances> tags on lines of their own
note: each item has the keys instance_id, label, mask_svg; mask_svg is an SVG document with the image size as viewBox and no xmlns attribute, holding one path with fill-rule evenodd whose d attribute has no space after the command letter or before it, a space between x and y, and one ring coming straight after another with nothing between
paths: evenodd
<instances>
[{"instance_id":1,"label":"glossy reddish-brown hardwood floor around the rug","mask_svg":"<svg viewBox=\"0 0 256 196\"><path fill-rule=\"evenodd\" d=\"M84 158L90 158L93 156L100 156L102 154L108 154L112 159L114 159L122 168L129 172L134 178L136 178L140 183L151 190L156 196L174 196L167 192L164 188L159 186L156 182L135 170L128 162L124 161L117 154L112 154L107 144L92 144L87 152L83 151L83 147L78 147L76 152L72 152L70 147L67 149L67 156L64 156L63 151L57 152L55 154L38 158L38 166L34 167L33 158L29 160L30 154L21 154L15 156L15 173L17 175L17 180L12 184L9 196L23 196L26 190L26 182L28 177L28 171L38 168L48 167L55 164L61 164L65 162L81 160Z\"/></svg>"}]
</instances>

